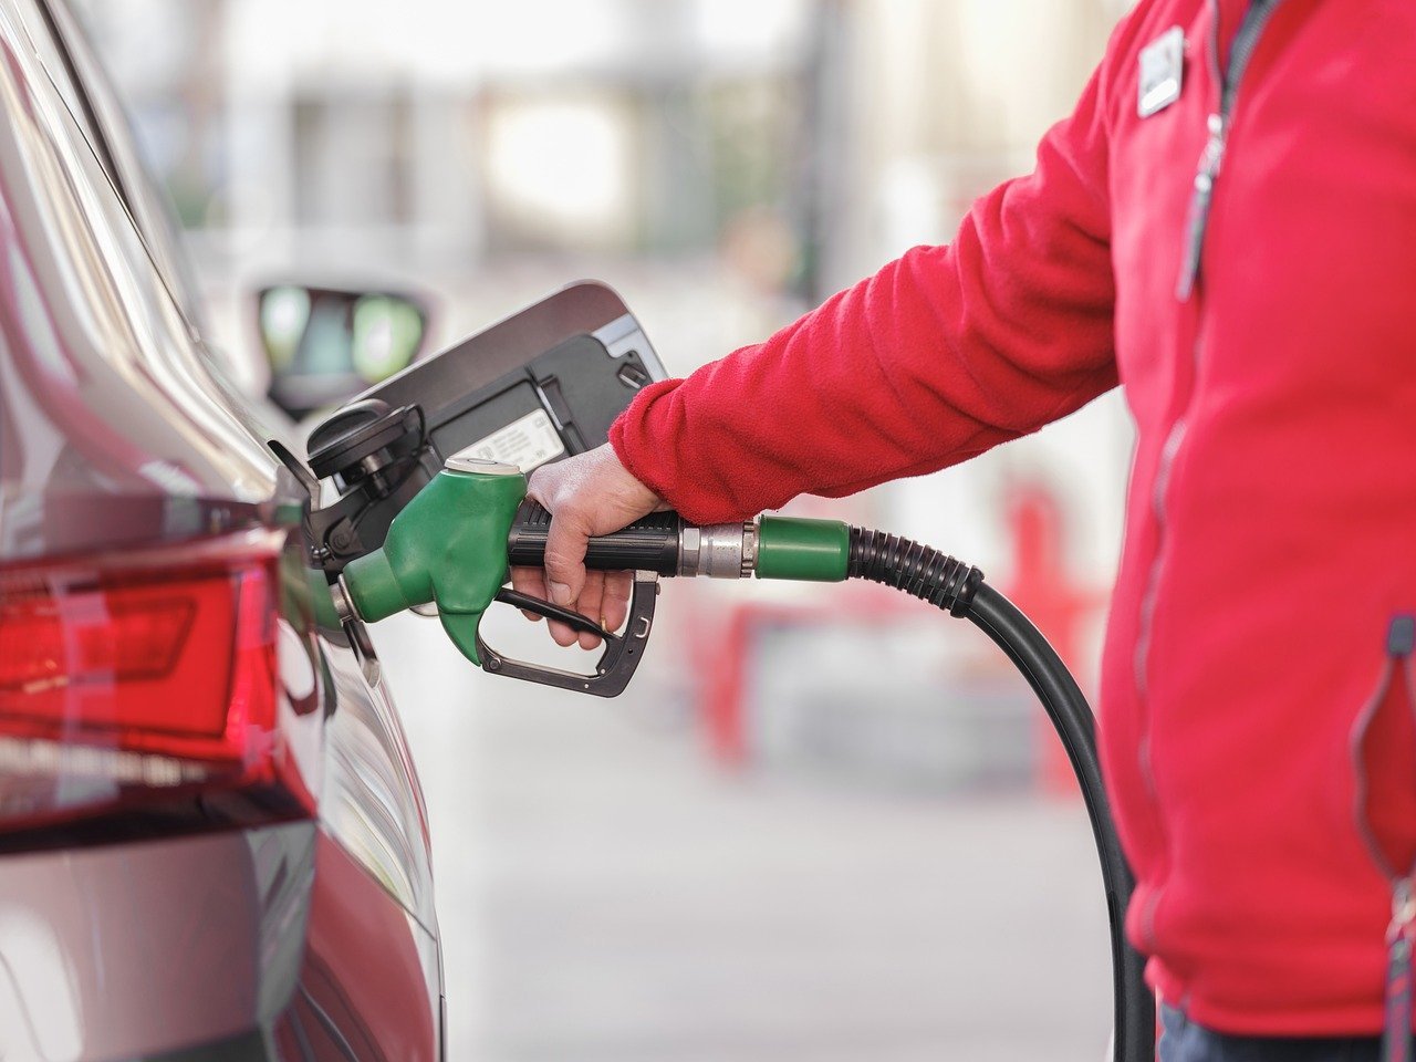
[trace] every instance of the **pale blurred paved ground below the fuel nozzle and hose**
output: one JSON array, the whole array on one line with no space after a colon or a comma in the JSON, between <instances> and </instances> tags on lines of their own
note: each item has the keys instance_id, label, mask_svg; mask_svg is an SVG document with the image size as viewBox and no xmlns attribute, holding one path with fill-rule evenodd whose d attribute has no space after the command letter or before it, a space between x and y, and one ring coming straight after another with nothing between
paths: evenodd
<instances>
[{"instance_id":1,"label":"pale blurred paved ground below the fuel nozzle and hose","mask_svg":"<svg viewBox=\"0 0 1416 1062\"><path fill-rule=\"evenodd\" d=\"M724 775L663 675L559 695L472 674L436 623L391 623L452 1059L1103 1058L1079 804Z\"/></svg>"}]
</instances>

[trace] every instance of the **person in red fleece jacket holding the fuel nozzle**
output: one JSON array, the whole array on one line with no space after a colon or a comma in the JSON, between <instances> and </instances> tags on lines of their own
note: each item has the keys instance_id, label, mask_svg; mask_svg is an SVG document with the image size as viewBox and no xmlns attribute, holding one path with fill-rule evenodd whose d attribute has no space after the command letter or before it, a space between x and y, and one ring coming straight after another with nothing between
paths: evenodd
<instances>
[{"instance_id":1,"label":"person in red fleece jacket holding the fuel nozzle","mask_svg":"<svg viewBox=\"0 0 1416 1062\"><path fill-rule=\"evenodd\" d=\"M1409 0L1143 0L952 244L539 469L547 568L514 579L613 624L627 583L586 575L590 534L935 472L1117 384L1137 442L1099 733L1161 1055L1375 1059L1410 1027L1416 915L1389 637L1416 610Z\"/></svg>"}]
</instances>

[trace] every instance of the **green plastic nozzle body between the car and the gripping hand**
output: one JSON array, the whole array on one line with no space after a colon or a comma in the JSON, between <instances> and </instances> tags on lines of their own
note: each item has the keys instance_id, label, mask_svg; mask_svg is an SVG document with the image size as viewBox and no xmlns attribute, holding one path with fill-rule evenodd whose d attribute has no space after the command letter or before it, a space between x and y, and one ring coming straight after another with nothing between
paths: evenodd
<instances>
[{"instance_id":1,"label":"green plastic nozzle body between the car and the gripping hand","mask_svg":"<svg viewBox=\"0 0 1416 1062\"><path fill-rule=\"evenodd\" d=\"M477 624L507 579L507 531L525 493L513 466L450 459L394 518L382 548L344 568L358 616L372 623L433 602L447 637L480 666Z\"/></svg>"}]
</instances>

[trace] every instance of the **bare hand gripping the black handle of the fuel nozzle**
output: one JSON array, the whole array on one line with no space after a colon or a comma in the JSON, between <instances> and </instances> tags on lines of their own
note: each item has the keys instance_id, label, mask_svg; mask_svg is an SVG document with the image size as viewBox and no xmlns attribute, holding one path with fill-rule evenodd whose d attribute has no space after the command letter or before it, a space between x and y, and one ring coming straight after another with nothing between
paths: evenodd
<instances>
[{"instance_id":1,"label":"bare hand gripping the black handle of the fuel nozzle","mask_svg":"<svg viewBox=\"0 0 1416 1062\"><path fill-rule=\"evenodd\" d=\"M531 474L527 494L551 511L545 542L545 572L513 568L511 585L523 593L573 609L606 630L615 630L629 615L630 572L586 572L585 548L590 535L605 535L633 524L640 517L667 508L664 500L634 479L606 443L555 464L542 464ZM547 593L549 590L549 593ZM525 613L528 619L538 619ZM556 644L595 649L593 634L576 634L564 623L551 623Z\"/></svg>"}]
</instances>

